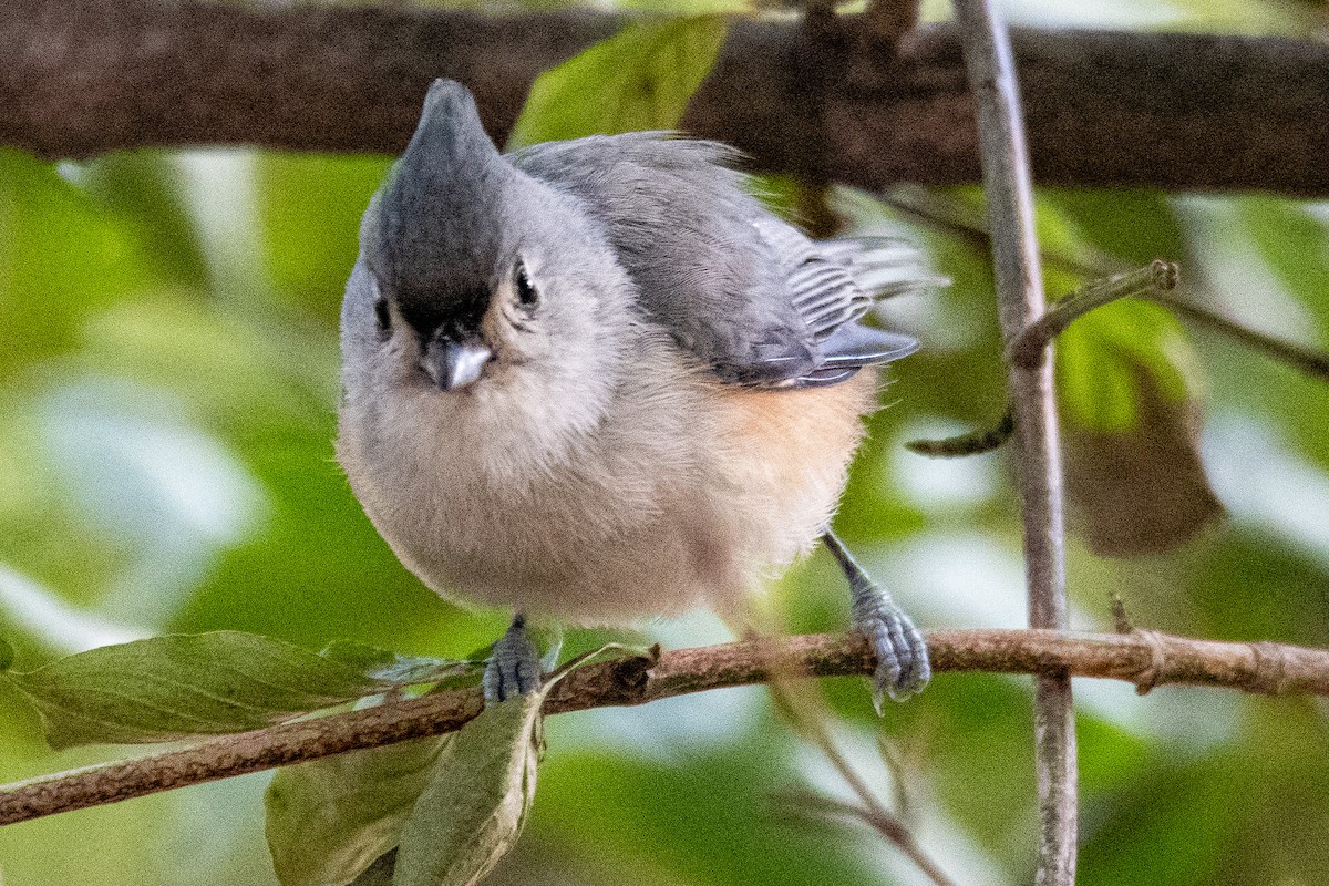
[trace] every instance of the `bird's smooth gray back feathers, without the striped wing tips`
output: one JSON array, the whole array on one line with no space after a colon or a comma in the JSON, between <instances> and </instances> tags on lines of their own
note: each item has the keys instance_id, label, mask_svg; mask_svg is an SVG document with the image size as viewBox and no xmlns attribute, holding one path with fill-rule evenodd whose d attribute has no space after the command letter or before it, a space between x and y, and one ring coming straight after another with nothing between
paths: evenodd
<instances>
[{"instance_id":1,"label":"bird's smooth gray back feathers, without the striped wing tips","mask_svg":"<svg viewBox=\"0 0 1329 886\"><path fill-rule=\"evenodd\" d=\"M631 133L549 142L510 157L586 203L646 313L722 379L780 385L821 364L817 331L789 286L799 260L792 252L812 242L748 194L746 177L731 167L735 151ZM864 296L840 321L867 304Z\"/></svg>"}]
</instances>

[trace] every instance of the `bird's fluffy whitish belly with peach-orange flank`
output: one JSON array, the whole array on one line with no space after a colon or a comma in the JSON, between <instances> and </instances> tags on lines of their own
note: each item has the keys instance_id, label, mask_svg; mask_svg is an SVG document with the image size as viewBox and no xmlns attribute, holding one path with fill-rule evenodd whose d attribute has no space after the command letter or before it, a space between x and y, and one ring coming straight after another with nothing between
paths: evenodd
<instances>
[{"instance_id":1,"label":"bird's fluffy whitish belly with peach-orange flank","mask_svg":"<svg viewBox=\"0 0 1329 886\"><path fill-rule=\"evenodd\" d=\"M735 615L760 573L824 531L870 391L720 387L699 401L719 417L680 412L675 440L657 428L625 453L606 430L553 464L505 460L512 448L477 445L456 416L432 426L428 410L399 416L372 458L347 457L364 441L343 422L339 452L377 530L441 595L585 624L698 604ZM420 438L436 445L408 445Z\"/></svg>"}]
</instances>

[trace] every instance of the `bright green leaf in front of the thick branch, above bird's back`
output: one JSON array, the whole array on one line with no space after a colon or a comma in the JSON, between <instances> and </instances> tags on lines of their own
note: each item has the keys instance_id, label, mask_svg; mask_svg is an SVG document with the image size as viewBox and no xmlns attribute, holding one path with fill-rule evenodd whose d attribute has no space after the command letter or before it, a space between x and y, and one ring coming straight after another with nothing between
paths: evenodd
<instances>
[{"instance_id":1,"label":"bright green leaf in front of the thick branch, above bird's back","mask_svg":"<svg viewBox=\"0 0 1329 886\"><path fill-rule=\"evenodd\" d=\"M509 149L643 129L676 129L728 33L723 16L631 24L541 74Z\"/></svg>"}]
</instances>

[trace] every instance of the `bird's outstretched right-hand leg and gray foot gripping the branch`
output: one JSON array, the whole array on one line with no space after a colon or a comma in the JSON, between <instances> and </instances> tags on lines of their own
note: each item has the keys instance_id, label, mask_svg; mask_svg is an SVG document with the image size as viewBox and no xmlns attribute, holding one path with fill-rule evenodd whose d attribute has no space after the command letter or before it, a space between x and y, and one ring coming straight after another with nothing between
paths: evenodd
<instances>
[{"instance_id":1,"label":"bird's outstretched right-hand leg and gray foot gripping the branch","mask_svg":"<svg viewBox=\"0 0 1329 886\"><path fill-rule=\"evenodd\" d=\"M827 533L823 543L835 555L849 579L849 627L868 638L877 655L872 700L881 712L881 695L904 701L932 679L928 643L890 595L868 578L844 543Z\"/></svg>"}]
</instances>

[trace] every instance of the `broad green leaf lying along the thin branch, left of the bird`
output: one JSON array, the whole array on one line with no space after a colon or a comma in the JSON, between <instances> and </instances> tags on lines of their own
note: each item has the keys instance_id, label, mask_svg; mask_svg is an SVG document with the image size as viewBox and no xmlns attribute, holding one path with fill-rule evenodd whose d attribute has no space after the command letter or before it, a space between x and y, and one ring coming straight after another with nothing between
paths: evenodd
<instances>
[{"instance_id":1,"label":"broad green leaf lying along the thin branch, left of the bird","mask_svg":"<svg viewBox=\"0 0 1329 886\"><path fill-rule=\"evenodd\" d=\"M54 748L245 732L392 688L290 643L238 631L104 646L4 679L32 700Z\"/></svg>"}]
</instances>

